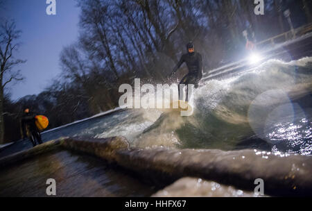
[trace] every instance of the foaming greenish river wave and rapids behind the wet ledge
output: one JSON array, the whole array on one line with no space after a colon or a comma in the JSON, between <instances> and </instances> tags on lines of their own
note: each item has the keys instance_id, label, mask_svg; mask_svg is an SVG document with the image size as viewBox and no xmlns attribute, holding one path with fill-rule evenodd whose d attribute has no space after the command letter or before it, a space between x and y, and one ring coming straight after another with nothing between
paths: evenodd
<instances>
[{"instance_id":1,"label":"foaming greenish river wave and rapids behind the wet ledge","mask_svg":"<svg viewBox=\"0 0 312 211\"><path fill-rule=\"evenodd\" d=\"M252 71L204 81L194 92L194 113L132 109L42 134L122 135L131 146L177 149L263 149L312 154L312 58L269 60Z\"/></svg>"}]
</instances>

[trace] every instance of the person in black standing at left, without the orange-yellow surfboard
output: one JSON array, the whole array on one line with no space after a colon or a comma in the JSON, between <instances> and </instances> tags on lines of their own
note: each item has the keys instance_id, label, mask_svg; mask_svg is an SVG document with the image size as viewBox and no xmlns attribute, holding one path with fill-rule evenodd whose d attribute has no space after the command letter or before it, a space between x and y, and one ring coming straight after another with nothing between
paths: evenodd
<instances>
[{"instance_id":1,"label":"person in black standing at left, without the orange-yellow surfboard","mask_svg":"<svg viewBox=\"0 0 312 211\"><path fill-rule=\"evenodd\" d=\"M24 115L21 117L20 121L21 138L25 140L26 137L28 137L33 143L33 146L36 146L35 140L37 140L39 144L42 144L40 130L35 124L35 116L33 112L30 112L29 108L25 108Z\"/></svg>"}]
</instances>

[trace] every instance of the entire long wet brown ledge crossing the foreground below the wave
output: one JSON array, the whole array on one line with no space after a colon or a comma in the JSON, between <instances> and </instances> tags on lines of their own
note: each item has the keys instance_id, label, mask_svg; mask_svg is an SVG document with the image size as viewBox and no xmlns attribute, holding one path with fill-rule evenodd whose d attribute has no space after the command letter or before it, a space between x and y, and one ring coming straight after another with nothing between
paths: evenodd
<instances>
[{"instance_id":1,"label":"entire long wet brown ledge crossing the foreground below the wave","mask_svg":"<svg viewBox=\"0 0 312 211\"><path fill-rule=\"evenodd\" d=\"M265 193L269 195L312 194L312 158L308 156L274 155L253 150L130 149L123 137L62 138L2 158L0 167L60 146L95 155L155 181L191 176L253 191L254 180L261 178Z\"/></svg>"}]
</instances>

